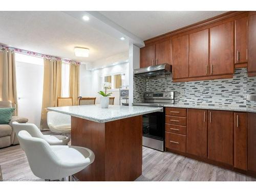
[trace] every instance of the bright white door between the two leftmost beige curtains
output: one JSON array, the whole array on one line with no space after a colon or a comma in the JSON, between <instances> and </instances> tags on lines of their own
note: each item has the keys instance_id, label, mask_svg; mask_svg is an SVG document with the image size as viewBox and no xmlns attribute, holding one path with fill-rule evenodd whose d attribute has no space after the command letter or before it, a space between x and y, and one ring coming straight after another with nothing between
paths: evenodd
<instances>
[{"instance_id":1,"label":"bright white door between the two leftmost beige curtains","mask_svg":"<svg viewBox=\"0 0 256 192\"><path fill-rule=\"evenodd\" d=\"M40 126L44 60L16 54L16 81L18 116L26 117L29 123Z\"/></svg>"}]
</instances>

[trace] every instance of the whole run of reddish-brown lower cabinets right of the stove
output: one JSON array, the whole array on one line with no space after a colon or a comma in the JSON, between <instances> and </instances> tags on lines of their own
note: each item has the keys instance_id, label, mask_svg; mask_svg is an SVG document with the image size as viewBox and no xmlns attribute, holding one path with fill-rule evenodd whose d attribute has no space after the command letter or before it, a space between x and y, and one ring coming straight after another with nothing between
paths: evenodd
<instances>
[{"instance_id":1,"label":"whole run of reddish-brown lower cabinets right of the stove","mask_svg":"<svg viewBox=\"0 0 256 192\"><path fill-rule=\"evenodd\" d=\"M256 113L186 109L166 120L179 120L165 124L166 151L256 177Z\"/></svg>"}]
</instances>

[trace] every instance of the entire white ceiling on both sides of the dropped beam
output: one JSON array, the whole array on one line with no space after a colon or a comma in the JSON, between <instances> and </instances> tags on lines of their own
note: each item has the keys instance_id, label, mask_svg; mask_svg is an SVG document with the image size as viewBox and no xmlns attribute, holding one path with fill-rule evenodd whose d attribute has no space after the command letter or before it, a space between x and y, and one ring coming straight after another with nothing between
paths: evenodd
<instances>
[{"instance_id":1,"label":"entire white ceiling on both sides of the dropped beam","mask_svg":"<svg viewBox=\"0 0 256 192\"><path fill-rule=\"evenodd\" d=\"M99 15L116 23L119 34L125 36L126 29L146 40L224 12L101 11ZM107 28L102 27L106 22L104 18L103 23L96 23L95 18L84 22L80 18L83 14L87 12L0 11L0 44L84 63L128 52L128 40L121 41L114 31L112 34L111 30L105 30ZM120 26L124 30L120 30ZM76 46L89 48L90 56L75 57Z\"/></svg>"}]
</instances>

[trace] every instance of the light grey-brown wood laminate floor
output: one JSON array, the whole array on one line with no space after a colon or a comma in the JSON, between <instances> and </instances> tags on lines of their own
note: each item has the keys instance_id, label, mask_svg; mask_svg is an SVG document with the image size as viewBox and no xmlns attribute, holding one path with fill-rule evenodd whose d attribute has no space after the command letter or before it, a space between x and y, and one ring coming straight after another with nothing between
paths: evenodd
<instances>
[{"instance_id":1,"label":"light grey-brown wood laminate floor","mask_svg":"<svg viewBox=\"0 0 256 192\"><path fill-rule=\"evenodd\" d=\"M32 173L19 145L0 149L0 165L4 181L42 181ZM142 170L136 181L256 181L227 169L147 147L143 147Z\"/></svg>"}]
</instances>

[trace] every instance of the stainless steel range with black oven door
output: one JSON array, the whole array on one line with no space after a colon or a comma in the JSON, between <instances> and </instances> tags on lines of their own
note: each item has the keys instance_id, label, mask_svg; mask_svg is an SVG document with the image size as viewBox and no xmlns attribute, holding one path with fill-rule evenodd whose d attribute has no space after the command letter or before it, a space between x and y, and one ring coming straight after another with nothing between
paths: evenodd
<instances>
[{"instance_id":1,"label":"stainless steel range with black oven door","mask_svg":"<svg viewBox=\"0 0 256 192\"><path fill-rule=\"evenodd\" d=\"M174 92L146 92L143 102L133 105L158 106L161 112L143 115L142 145L164 151L165 104L174 103Z\"/></svg>"}]
</instances>

